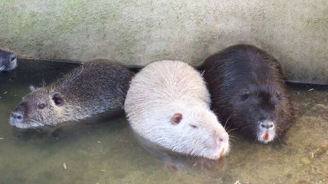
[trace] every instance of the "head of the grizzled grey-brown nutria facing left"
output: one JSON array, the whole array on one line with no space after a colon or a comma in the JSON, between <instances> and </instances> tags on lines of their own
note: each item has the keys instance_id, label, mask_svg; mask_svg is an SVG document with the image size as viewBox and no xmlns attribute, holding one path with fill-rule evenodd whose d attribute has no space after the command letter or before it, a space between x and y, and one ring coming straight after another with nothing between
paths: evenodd
<instances>
[{"instance_id":1,"label":"head of the grizzled grey-brown nutria facing left","mask_svg":"<svg viewBox=\"0 0 328 184\"><path fill-rule=\"evenodd\" d=\"M17 128L53 126L74 119L75 108L65 103L65 97L49 88L30 87L31 93L13 110L10 124ZM75 117L75 119L83 117Z\"/></svg>"}]
</instances>

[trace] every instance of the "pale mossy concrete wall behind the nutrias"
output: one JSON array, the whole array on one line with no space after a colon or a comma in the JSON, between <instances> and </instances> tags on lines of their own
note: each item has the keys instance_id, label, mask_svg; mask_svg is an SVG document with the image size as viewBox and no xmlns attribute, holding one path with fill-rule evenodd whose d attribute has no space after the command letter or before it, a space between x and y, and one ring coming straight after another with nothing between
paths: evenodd
<instances>
[{"instance_id":1,"label":"pale mossy concrete wall behind the nutrias","mask_svg":"<svg viewBox=\"0 0 328 184\"><path fill-rule=\"evenodd\" d=\"M289 80L328 83L328 1L2 0L0 47L28 57L194 65L251 43Z\"/></svg>"}]
</instances>

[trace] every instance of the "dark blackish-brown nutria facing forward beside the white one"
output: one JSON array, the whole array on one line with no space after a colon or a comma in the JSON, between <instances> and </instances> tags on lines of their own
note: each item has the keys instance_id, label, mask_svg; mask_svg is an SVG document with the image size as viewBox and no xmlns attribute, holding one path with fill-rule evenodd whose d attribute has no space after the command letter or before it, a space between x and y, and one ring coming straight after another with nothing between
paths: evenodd
<instances>
[{"instance_id":1,"label":"dark blackish-brown nutria facing forward beside the white one","mask_svg":"<svg viewBox=\"0 0 328 184\"><path fill-rule=\"evenodd\" d=\"M221 122L262 143L280 139L294 121L279 62L253 45L239 44L200 66Z\"/></svg>"}]
</instances>

